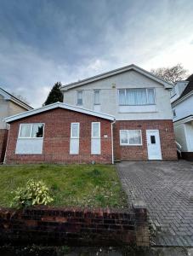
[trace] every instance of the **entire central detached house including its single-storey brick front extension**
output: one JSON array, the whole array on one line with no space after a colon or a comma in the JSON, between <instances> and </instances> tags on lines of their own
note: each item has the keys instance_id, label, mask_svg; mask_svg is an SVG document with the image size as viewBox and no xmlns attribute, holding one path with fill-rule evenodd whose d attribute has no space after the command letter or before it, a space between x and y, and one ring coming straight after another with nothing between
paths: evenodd
<instances>
[{"instance_id":1,"label":"entire central detached house including its single-storey brick front extension","mask_svg":"<svg viewBox=\"0 0 193 256\"><path fill-rule=\"evenodd\" d=\"M177 160L171 88L135 65L66 84L64 103L5 119L4 162Z\"/></svg>"}]
</instances>

